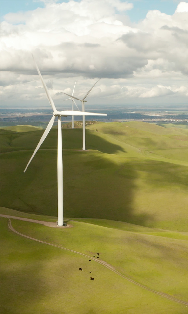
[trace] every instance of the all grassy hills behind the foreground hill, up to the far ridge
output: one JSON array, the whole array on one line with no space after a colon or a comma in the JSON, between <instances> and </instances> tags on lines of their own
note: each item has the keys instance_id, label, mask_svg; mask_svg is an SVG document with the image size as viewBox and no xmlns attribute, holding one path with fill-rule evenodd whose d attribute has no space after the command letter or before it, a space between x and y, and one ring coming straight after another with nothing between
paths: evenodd
<instances>
[{"instance_id":1,"label":"all grassy hills behind the foreground hill, up to the far ridge","mask_svg":"<svg viewBox=\"0 0 188 314\"><path fill-rule=\"evenodd\" d=\"M98 123L86 130L85 152L79 151L82 129L63 129L65 216L186 231L187 143L171 138L185 136L178 128L169 129ZM43 132L2 134L1 204L56 216L56 130L23 173Z\"/></svg>"}]
</instances>

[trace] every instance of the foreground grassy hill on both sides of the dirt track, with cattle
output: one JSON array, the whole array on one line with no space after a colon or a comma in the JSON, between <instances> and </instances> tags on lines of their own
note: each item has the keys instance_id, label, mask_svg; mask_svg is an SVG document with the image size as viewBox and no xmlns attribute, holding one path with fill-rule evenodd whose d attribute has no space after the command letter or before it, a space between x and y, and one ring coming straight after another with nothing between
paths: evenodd
<instances>
[{"instance_id":1,"label":"foreground grassy hill on both sides of the dirt track, with cattle","mask_svg":"<svg viewBox=\"0 0 188 314\"><path fill-rule=\"evenodd\" d=\"M89 256L97 251L100 259L136 281L186 299L184 241L161 242L158 237L80 222L62 230L11 221L16 230L34 238ZM14 234L7 222L1 219L1 313L186 313L185 305L144 290L87 257Z\"/></svg>"}]
</instances>

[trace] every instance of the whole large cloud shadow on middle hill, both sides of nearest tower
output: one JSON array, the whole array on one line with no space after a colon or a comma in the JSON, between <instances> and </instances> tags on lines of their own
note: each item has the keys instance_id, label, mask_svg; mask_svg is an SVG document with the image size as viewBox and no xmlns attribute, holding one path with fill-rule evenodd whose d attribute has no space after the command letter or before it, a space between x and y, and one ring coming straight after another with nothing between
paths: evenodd
<instances>
[{"instance_id":1,"label":"whole large cloud shadow on middle hill, both sides of nearest tower","mask_svg":"<svg viewBox=\"0 0 188 314\"><path fill-rule=\"evenodd\" d=\"M30 151L3 154L1 205L33 214L57 216L57 153L39 150L26 173ZM135 213L132 163L116 164L102 153L64 151L64 216L101 218L145 225L154 217Z\"/></svg>"}]
</instances>

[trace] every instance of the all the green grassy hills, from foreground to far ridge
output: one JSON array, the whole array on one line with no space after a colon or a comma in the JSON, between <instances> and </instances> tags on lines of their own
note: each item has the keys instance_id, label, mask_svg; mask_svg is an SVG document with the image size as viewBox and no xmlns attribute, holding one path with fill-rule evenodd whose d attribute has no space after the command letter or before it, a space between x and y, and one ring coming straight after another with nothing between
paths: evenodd
<instances>
[{"instance_id":1,"label":"all the green grassy hills, from foreground to far ridge","mask_svg":"<svg viewBox=\"0 0 188 314\"><path fill-rule=\"evenodd\" d=\"M19 127L19 126L18 126ZM144 122L63 128L64 215L72 228L1 218L1 313L184 314L187 130ZM1 129L1 214L57 220L57 130ZM79 271L79 268L83 271ZM92 268L92 269L91 269ZM90 271L92 273L90 274ZM94 281L90 280L92 275Z\"/></svg>"}]
</instances>

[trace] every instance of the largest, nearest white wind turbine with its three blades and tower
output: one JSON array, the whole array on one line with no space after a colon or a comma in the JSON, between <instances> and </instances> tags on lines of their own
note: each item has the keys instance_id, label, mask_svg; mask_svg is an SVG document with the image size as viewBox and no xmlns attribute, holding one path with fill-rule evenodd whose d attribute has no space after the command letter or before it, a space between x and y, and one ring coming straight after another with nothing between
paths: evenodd
<instances>
[{"instance_id":1,"label":"largest, nearest white wind turbine with its three blades and tower","mask_svg":"<svg viewBox=\"0 0 188 314\"><path fill-rule=\"evenodd\" d=\"M34 59L34 57L33 57ZM35 60L34 60L35 62ZM38 151L39 147L41 146L41 144L44 142L45 138L47 137L48 133L51 130L51 127L53 126L55 117L58 117L58 130L57 130L57 199L58 199L58 226L65 226L66 224L64 224L63 222L63 154L62 154L62 126L61 126L61 116L107 116L107 114L105 113L92 113L92 112L83 112L83 111L73 111L73 110L65 110L65 111L57 111L57 109L55 108L54 102L48 92L48 89L46 87L46 84L44 83L44 80L42 78L42 75L39 71L39 68L35 62L35 66L37 69L37 72L39 74L39 77L41 79L41 82L43 84L43 87L45 89L47 98L50 102L50 105L52 107L53 110L53 116L48 124L48 126L46 127L37 147L34 150L33 155L31 156L24 172L27 170L31 160L33 159L34 155L36 154L36 152Z\"/></svg>"}]
</instances>

